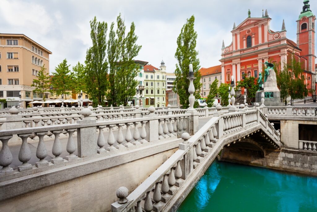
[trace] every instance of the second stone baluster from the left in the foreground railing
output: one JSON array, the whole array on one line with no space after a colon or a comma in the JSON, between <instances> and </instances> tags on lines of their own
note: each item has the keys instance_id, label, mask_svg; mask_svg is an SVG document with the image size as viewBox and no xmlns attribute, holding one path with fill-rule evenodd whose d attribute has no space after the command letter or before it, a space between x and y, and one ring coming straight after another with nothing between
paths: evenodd
<instances>
[{"instance_id":1,"label":"second stone baluster from the left in the foreground railing","mask_svg":"<svg viewBox=\"0 0 317 212\"><path fill-rule=\"evenodd\" d=\"M18 166L19 172L32 169L32 165L28 163L31 159L31 150L27 142L30 135L31 133L18 134L18 136L22 139L22 145L19 152L19 161L22 162L22 165Z\"/></svg>"}]
</instances>

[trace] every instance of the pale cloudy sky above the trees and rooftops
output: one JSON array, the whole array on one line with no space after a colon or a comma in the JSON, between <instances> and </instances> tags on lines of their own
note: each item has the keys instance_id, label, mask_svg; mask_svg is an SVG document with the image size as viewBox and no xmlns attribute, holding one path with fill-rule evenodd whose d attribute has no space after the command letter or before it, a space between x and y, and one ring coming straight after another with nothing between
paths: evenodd
<instances>
[{"instance_id":1,"label":"pale cloudy sky above the trees and rooftops","mask_svg":"<svg viewBox=\"0 0 317 212\"><path fill-rule=\"evenodd\" d=\"M317 13L317 2L310 1ZM111 22L121 12L127 28L136 25L138 44L142 45L138 60L156 67L161 59L167 72L174 72L176 39L186 18L195 15L198 33L197 50L201 67L220 65L221 45L232 40L233 23L248 17L262 17L262 9L272 18L270 29L281 30L285 19L287 37L296 41L296 20L302 0L1 0L0 33L23 33L53 52L50 72L66 58L68 64L84 63L91 45L89 21Z\"/></svg>"}]
</instances>

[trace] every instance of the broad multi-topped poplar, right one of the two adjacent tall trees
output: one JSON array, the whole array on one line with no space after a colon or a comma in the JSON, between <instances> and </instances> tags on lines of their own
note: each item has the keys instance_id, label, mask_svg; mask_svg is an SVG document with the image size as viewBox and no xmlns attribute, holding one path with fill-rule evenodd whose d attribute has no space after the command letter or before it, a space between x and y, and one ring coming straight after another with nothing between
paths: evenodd
<instances>
[{"instance_id":1,"label":"broad multi-topped poplar, right one of the two adjacent tall trees","mask_svg":"<svg viewBox=\"0 0 317 212\"><path fill-rule=\"evenodd\" d=\"M114 98L111 100L114 105L123 104L127 105L128 101L133 98L136 92L138 81L135 79L139 72L139 67L134 63L134 58L139 54L141 45L137 45L136 41L138 36L135 35L135 25L132 22L130 31L126 34L126 26L121 14L117 17L117 38L113 41L113 31L110 34L110 42L108 42L108 57L110 56L112 64L110 70L112 71L109 76L109 81L114 85L111 86L111 93ZM113 44L111 44L113 43ZM112 50L116 49L116 53ZM117 57L116 64L113 59ZM115 66L114 66L115 65ZM115 71L114 71L115 70ZM113 74L114 73L114 74ZM114 77L114 79L110 79ZM109 95L108 95L109 96Z\"/></svg>"}]
</instances>

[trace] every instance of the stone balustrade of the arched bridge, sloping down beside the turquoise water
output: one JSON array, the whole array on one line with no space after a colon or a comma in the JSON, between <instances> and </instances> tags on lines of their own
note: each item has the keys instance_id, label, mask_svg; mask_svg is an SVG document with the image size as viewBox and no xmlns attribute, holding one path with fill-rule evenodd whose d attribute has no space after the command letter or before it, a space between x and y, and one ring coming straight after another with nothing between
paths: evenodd
<instances>
[{"instance_id":1,"label":"stone balustrade of the arched bridge, sloping down beside the turquoise water","mask_svg":"<svg viewBox=\"0 0 317 212\"><path fill-rule=\"evenodd\" d=\"M117 190L118 201L111 205L112 212L176 210L223 146L229 145L232 134L236 134L233 136L236 140L239 138L237 133L243 133L241 129L252 129L255 125L261 127L260 115L263 116L262 122L266 123L265 116L256 109L223 115L216 112L215 117L191 138L183 133L184 141L179 144L179 149L141 185L130 194L125 187ZM279 140L273 140L273 143L276 147L281 146Z\"/></svg>"}]
</instances>

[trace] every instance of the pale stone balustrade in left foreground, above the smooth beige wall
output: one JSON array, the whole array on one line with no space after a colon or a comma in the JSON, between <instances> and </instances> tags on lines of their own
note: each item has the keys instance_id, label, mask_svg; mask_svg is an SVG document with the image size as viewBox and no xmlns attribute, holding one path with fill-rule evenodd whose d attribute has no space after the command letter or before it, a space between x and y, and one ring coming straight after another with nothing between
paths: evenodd
<instances>
[{"instance_id":1,"label":"pale stone balustrade in left foreground, above the smooth beige wall","mask_svg":"<svg viewBox=\"0 0 317 212\"><path fill-rule=\"evenodd\" d=\"M76 160L79 162L82 161L82 157L92 155L104 157L115 150L135 148L136 146L139 147L139 145L141 148L141 144L148 142L171 137L177 138L177 120L193 116L192 114L179 114L158 117L154 113L154 107L149 110L150 114L144 118L96 122L91 116L92 111L86 108L82 110L84 118L82 120L77 120L76 124L70 123L63 126L42 126L26 129L0 130L0 140L2 142L2 149L0 152L0 166L2 166L2 169L0 169L0 176L5 177L5 180L10 180L16 177L46 171L55 166L60 167L60 165L57 165L60 163L65 163L67 165L69 163L68 161L72 161L72 164L74 164L76 163ZM108 132L107 140L102 133L103 131L106 131L106 129ZM114 129L117 130L116 134L113 133ZM74 132L77 132L77 145L73 139ZM49 150L44 143L44 137L49 133L54 134L54 144L51 153L55 157L51 161L45 160ZM62 149L61 141L59 139L61 133L68 134L66 151ZM36 150L38 161L35 162L35 164L29 163L32 155L27 139L32 134L39 137ZM8 141L13 136L18 136L22 139L22 145L18 155L12 155L10 147L8 146ZM123 142L125 143L123 144ZM78 155L74 154L76 149ZM62 157L62 155L64 156ZM10 167L13 157L18 158L18 160L21 161L21 165L19 165L17 169ZM0 181L2 181L1 177Z\"/></svg>"}]
</instances>

